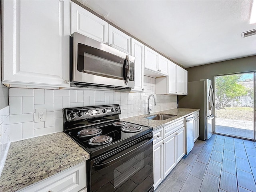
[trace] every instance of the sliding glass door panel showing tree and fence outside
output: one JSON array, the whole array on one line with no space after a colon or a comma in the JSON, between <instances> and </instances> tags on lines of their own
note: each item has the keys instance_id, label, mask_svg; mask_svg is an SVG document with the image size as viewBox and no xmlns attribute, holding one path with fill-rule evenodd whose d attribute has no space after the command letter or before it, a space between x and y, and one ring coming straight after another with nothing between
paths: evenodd
<instances>
[{"instance_id":1,"label":"sliding glass door panel showing tree and fence outside","mask_svg":"<svg viewBox=\"0 0 256 192\"><path fill-rule=\"evenodd\" d=\"M216 134L255 140L255 72L214 77Z\"/></svg>"}]
</instances>

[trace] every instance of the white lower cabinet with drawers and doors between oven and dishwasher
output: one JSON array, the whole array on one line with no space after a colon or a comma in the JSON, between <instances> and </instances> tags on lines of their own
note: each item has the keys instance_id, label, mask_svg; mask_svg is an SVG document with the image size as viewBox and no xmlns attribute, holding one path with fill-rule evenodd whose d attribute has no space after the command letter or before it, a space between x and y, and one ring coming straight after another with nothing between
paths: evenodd
<instances>
[{"instance_id":1,"label":"white lower cabinet with drawers and doors between oven and dishwasher","mask_svg":"<svg viewBox=\"0 0 256 192\"><path fill-rule=\"evenodd\" d=\"M156 189L185 154L184 118L154 131L153 151Z\"/></svg>"}]
</instances>

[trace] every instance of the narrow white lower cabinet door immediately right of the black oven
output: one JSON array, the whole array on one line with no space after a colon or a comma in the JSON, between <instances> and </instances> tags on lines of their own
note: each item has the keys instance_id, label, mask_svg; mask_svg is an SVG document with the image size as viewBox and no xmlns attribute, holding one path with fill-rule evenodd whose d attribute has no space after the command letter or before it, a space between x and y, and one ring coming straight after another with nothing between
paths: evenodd
<instances>
[{"instance_id":1,"label":"narrow white lower cabinet door immediately right of the black oven","mask_svg":"<svg viewBox=\"0 0 256 192\"><path fill-rule=\"evenodd\" d=\"M154 188L163 180L163 145L162 141L154 144L153 146L153 159L154 159Z\"/></svg>"}]
</instances>

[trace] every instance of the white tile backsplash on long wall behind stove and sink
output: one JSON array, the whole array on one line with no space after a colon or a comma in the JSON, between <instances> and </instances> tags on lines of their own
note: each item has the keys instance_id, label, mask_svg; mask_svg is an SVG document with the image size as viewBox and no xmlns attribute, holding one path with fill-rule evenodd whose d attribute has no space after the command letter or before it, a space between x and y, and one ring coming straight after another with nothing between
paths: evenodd
<instances>
[{"instance_id":1,"label":"white tile backsplash on long wall behind stove and sink","mask_svg":"<svg viewBox=\"0 0 256 192\"><path fill-rule=\"evenodd\" d=\"M62 109L69 107L120 104L120 118L147 113L147 99L156 96L156 106L150 99L152 112L177 107L177 96L156 95L156 79L144 76L144 92L101 90L48 90L10 88L10 141L17 141L54 132L61 132ZM46 109L46 121L34 122L36 109Z\"/></svg>"}]
</instances>

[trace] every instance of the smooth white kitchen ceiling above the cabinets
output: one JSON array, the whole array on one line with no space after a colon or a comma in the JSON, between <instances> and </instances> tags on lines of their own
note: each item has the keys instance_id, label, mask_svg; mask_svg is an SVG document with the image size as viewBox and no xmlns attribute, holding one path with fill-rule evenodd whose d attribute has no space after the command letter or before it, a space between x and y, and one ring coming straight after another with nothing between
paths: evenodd
<instances>
[{"instance_id":1,"label":"smooth white kitchen ceiling above the cabinets","mask_svg":"<svg viewBox=\"0 0 256 192\"><path fill-rule=\"evenodd\" d=\"M184 67L256 55L252 0L79 0Z\"/></svg>"}]
</instances>

